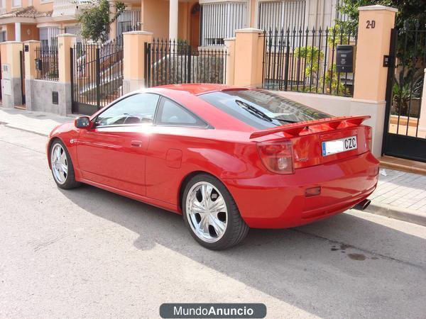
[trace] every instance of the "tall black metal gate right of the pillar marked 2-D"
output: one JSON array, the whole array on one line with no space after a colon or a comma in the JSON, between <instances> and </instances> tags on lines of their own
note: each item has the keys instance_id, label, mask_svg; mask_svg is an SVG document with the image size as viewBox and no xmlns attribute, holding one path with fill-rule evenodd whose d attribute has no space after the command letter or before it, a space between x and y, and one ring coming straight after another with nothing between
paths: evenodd
<instances>
[{"instance_id":1,"label":"tall black metal gate right of the pillar marked 2-D","mask_svg":"<svg viewBox=\"0 0 426 319\"><path fill-rule=\"evenodd\" d=\"M382 153L426 162L426 110L421 110L426 30L417 24L398 35L393 29L389 52Z\"/></svg>"}]
</instances>

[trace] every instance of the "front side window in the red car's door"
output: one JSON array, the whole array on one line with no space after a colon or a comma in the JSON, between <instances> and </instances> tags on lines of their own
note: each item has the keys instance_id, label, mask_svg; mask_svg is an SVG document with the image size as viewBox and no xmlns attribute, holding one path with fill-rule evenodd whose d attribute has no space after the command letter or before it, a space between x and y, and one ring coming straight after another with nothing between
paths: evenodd
<instances>
[{"instance_id":1,"label":"front side window in the red car's door","mask_svg":"<svg viewBox=\"0 0 426 319\"><path fill-rule=\"evenodd\" d=\"M100 113L96 125L153 123L158 99L160 96L150 93L129 96Z\"/></svg>"}]
</instances>

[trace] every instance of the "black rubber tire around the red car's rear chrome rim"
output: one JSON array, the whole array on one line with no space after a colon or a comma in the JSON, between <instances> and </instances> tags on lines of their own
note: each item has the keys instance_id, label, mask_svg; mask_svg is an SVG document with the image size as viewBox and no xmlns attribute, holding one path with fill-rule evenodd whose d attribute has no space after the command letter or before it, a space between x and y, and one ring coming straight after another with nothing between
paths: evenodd
<instances>
[{"instance_id":1,"label":"black rubber tire around the red car's rear chrome rim","mask_svg":"<svg viewBox=\"0 0 426 319\"><path fill-rule=\"evenodd\" d=\"M216 187L217 190L219 190L219 192L222 194L222 197L224 198L226 209L228 211L228 220L226 223L224 235L222 235L222 237L217 240L217 242L206 242L200 237L198 237L194 230L192 230L192 227L190 225L191 222L190 220L188 220L187 216L186 203L189 191L192 189L192 186L203 181L207 181L208 183ZM187 185L185 186L185 191L182 195L182 212L183 219L185 220L185 224L187 225L188 230L190 230L192 237L194 237L194 239L197 240L200 245L208 248L209 250L225 250L226 248L238 245L242 240L244 240L247 233L249 232L249 226L244 222L243 218L241 218L234 198L232 198L228 189L226 189L226 186L224 186L224 184L222 184L219 179L212 177L212 175L209 174L197 174L195 177L192 177L192 179L190 179L190 181L187 183Z\"/></svg>"}]
</instances>

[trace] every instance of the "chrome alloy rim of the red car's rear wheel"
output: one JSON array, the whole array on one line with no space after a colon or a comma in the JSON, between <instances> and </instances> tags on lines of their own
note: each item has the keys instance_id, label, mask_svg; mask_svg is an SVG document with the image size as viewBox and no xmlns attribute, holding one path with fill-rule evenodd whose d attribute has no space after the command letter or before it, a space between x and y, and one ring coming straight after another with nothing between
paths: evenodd
<instances>
[{"instance_id":1,"label":"chrome alloy rim of the red car's rear wheel","mask_svg":"<svg viewBox=\"0 0 426 319\"><path fill-rule=\"evenodd\" d=\"M204 242L217 242L225 233L228 210L222 194L207 181L194 184L188 192L187 220L192 231Z\"/></svg>"}]
</instances>

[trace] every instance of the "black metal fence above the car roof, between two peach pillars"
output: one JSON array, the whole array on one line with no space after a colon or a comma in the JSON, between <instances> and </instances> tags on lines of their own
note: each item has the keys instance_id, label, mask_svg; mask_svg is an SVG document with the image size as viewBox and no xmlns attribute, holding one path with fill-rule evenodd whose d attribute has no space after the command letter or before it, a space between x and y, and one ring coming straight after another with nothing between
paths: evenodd
<instances>
[{"instance_id":1,"label":"black metal fence above the car roof, between two peach pillars","mask_svg":"<svg viewBox=\"0 0 426 319\"><path fill-rule=\"evenodd\" d=\"M145 85L224 84L226 50L192 49L185 41L156 39L145 45Z\"/></svg>"}]
</instances>

